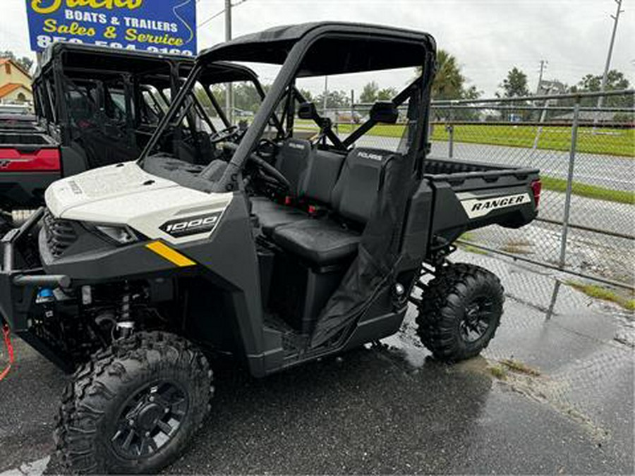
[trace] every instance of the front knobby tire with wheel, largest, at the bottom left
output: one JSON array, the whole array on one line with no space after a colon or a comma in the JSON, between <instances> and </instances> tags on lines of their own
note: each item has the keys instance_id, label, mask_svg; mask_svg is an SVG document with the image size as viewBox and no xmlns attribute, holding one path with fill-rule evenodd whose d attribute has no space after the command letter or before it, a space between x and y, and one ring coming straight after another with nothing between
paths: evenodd
<instances>
[{"instance_id":1,"label":"front knobby tire with wheel, largest, at the bottom left","mask_svg":"<svg viewBox=\"0 0 635 476\"><path fill-rule=\"evenodd\" d=\"M157 472L202 425L211 382L207 359L184 338L140 332L116 341L63 393L54 433L63 465L80 474Z\"/></svg>"}]
</instances>

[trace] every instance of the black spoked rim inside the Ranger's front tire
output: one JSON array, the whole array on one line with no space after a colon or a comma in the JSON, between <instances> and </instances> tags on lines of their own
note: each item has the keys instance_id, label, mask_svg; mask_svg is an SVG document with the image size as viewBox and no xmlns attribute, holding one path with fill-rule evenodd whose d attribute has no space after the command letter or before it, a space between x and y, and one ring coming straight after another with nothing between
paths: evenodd
<instances>
[{"instance_id":1,"label":"black spoked rim inside the Ranger's front tire","mask_svg":"<svg viewBox=\"0 0 635 476\"><path fill-rule=\"evenodd\" d=\"M188 413L188 398L172 382L154 382L128 398L111 442L123 458L155 455L176 437Z\"/></svg>"}]
</instances>

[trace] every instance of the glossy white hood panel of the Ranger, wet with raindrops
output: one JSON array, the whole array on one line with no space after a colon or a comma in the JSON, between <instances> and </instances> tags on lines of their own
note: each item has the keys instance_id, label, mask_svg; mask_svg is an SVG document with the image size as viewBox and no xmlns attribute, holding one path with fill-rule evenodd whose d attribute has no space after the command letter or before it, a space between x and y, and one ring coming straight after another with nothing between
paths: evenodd
<instances>
[{"instance_id":1,"label":"glossy white hood panel of the Ranger, wet with raindrops","mask_svg":"<svg viewBox=\"0 0 635 476\"><path fill-rule=\"evenodd\" d=\"M145 172L136 162L101 167L63 178L46 191L56 218L95 225L128 226L150 239L181 244L210 236L212 231L174 237L162 231L167 221L221 214L231 193L203 193Z\"/></svg>"}]
</instances>

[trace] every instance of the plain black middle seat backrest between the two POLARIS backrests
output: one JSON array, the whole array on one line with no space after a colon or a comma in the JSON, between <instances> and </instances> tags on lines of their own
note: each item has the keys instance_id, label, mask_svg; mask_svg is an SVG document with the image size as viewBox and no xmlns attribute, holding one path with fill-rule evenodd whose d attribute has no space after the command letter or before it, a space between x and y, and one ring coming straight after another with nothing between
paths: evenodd
<instances>
[{"instance_id":1,"label":"plain black middle seat backrest between the two POLARIS backrests","mask_svg":"<svg viewBox=\"0 0 635 476\"><path fill-rule=\"evenodd\" d=\"M330 205L344 157L336 152L314 150L301 183L300 197Z\"/></svg>"}]
</instances>

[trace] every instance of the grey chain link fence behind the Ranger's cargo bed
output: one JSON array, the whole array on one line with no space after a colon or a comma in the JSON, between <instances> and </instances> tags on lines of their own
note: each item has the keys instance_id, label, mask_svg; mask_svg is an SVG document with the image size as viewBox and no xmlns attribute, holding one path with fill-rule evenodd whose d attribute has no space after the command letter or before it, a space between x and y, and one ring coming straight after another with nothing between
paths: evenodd
<instances>
[{"instance_id":1,"label":"grey chain link fence behind the Ranger's cargo bed","mask_svg":"<svg viewBox=\"0 0 635 476\"><path fill-rule=\"evenodd\" d=\"M598 109L598 99L603 106ZM368 118L370 104L324 111L344 138ZM397 150L406 107L394 125L358 141ZM310 128L300 123L298 128ZM580 278L633 298L635 284L634 92L434 102L431 157L540 169L536 221L519 230L489 226L461 237L478 261L490 254L557 277L538 307L553 310L560 282ZM527 276L525 276L527 279ZM541 281L542 282L542 281ZM531 283L527 282L528 288ZM545 295L551 295L545 300Z\"/></svg>"}]
</instances>

